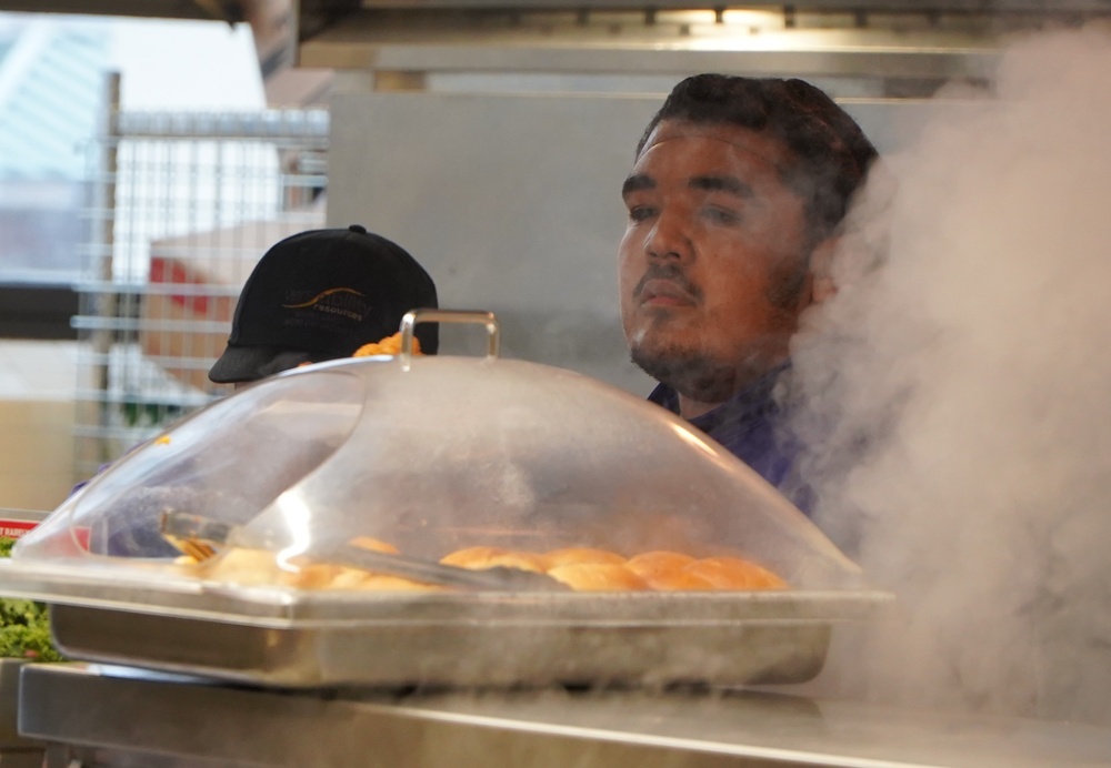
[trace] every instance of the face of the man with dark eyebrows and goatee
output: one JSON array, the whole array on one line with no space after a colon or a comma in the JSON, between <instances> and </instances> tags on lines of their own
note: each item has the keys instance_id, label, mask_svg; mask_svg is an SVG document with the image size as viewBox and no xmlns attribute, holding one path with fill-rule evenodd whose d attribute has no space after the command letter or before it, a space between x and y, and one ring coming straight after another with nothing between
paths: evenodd
<instances>
[{"instance_id":1,"label":"face of the man with dark eyebrows and goatee","mask_svg":"<svg viewBox=\"0 0 1111 768\"><path fill-rule=\"evenodd\" d=\"M788 158L754 131L663 121L625 181L625 340L634 363L687 398L723 402L787 356L810 296Z\"/></svg>"}]
</instances>

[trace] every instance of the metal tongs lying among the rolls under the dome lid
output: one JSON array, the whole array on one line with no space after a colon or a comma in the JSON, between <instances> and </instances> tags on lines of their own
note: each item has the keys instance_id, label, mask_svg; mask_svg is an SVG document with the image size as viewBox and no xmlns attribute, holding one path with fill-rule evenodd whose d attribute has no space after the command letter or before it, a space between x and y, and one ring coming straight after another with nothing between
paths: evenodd
<instances>
[{"instance_id":1,"label":"metal tongs lying among the rolls under the dome lid","mask_svg":"<svg viewBox=\"0 0 1111 768\"><path fill-rule=\"evenodd\" d=\"M162 511L159 529L166 540L197 560L214 557L221 549L228 547L248 547L270 552L276 552L278 548L278 537L269 532L250 530L242 526L171 508ZM301 554L314 560L462 589L494 592L568 589L567 585L557 582L547 574L503 566L471 570L404 555L376 552L356 546L348 540L326 540L314 544Z\"/></svg>"}]
</instances>

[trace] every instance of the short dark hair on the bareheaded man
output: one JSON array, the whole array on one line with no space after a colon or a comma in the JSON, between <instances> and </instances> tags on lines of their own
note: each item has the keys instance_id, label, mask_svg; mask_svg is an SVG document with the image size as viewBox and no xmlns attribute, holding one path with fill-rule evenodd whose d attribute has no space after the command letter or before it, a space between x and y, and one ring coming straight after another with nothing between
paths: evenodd
<instances>
[{"instance_id":1,"label":"short dark hair on the bareheaded man","mask_svg":"<svg viewBox=\"0 0 1111 768\"><path fill-rule=\"evenodd\" d=\"M725 123L770 134L794 155L784 181L807 201L814 240L832 233L878 156L860 125L803 80L695 74L675 85L652 118L637 156L660 122Z\"/></svg>"}]
</instances>

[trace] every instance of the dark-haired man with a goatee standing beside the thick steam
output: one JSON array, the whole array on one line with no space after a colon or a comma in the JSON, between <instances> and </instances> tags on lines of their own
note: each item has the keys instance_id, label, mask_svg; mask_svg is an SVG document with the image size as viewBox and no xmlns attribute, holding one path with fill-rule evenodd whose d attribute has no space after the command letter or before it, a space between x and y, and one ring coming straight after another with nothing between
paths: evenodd
<instances>
[{"instance_id":1,"label":"dark-haired man with a goatee standing beside the thick steam","mask_svg":"<svg viewBox=\"0 0 1111 768\"><path fill-rule=\"evenodd\" d=\"M622 195L621 317L649 398L783 489L794 451L772 390L877 152L801 80L699 74L637 146ZM805 508L803 495L788 493Z\"/></svg>"}]
</instances>

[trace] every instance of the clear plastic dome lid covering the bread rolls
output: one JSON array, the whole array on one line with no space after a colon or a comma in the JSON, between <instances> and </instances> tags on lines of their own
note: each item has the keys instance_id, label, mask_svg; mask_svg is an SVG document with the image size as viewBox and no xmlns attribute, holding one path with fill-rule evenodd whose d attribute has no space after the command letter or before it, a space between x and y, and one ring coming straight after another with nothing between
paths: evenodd
<instances>
[{"instance_id":1,"label":"clear plastic dome lid covering the bread rolls","mask_svg":"<svg viewBox=\"0 0 1111 768\"><path fill-rule=\"evenodd\" d=\"M286 557L360 537L433 562L473 546L667 549L751 558L792 587L862 586L801 512L685 421L494 354L346 360L264 380L118 461L14 557L173 558L168 511Z\"/></svg>"}]
</instances>

